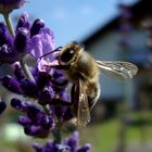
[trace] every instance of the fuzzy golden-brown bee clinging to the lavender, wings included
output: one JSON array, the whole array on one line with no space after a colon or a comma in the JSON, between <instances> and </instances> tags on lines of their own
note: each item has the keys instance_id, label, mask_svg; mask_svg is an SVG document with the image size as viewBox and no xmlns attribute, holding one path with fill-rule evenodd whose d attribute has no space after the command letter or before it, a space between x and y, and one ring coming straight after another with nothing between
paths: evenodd
<instances>
[{"instance_id":1,"label":"fuzzy golden-brown bee clinging to the lavender, wings included","mask_svg":"<svg viewBox=\"0 0 152 152\"><path fill-rule=\"evenodd\" d=\"M78 126L86 126L90 122L90 111L100 97L100 69L118 79L132 78L138 71L138 67L129 62L97 61L76 41L60 48L56 60L59 65L54 67L64 69L67 78L74 84L73 111L77 116Z\"/></svg>"}]
</instances>

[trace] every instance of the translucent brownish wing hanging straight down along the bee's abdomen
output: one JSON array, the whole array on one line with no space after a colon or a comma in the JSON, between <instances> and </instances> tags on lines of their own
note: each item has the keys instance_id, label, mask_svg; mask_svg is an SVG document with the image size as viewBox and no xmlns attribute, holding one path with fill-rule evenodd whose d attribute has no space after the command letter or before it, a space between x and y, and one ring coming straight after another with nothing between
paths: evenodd
<instances>
[{"instance_id":1,"label":"translucent brownish wing hanging straight down along the bee's abdomen","mask_svg":"<svg viewBox=\"0 0 152 152\"><path fill-rule=\"evenodd\" d=\"M90 122L90 110L86 90L84 89L83 81L79 79L79 98L78 98L78 111L77 111L77 125L85 127Z\"/></svg>"}]
</instances>

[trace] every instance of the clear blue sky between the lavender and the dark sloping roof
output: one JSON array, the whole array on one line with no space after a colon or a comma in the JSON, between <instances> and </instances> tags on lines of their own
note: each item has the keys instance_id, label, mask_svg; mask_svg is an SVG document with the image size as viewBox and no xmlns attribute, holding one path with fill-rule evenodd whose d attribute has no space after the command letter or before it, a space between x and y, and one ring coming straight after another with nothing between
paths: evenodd
<instances>
[{"instance_id":1,"label":"clear blue sky between the lavender and the dark sloping roof","mask_svg":"<svg viewBox=\"0 0 152 152\"><path fill-rule=\"evenodd\" d=\"M34 18L42 18L52 28L55 43L63 46L81 40L103 26L117 13L121 0L28 0L14 14L28 12ZM138 0L122 0L132 3Z\"/></svg>"}]
</instances>

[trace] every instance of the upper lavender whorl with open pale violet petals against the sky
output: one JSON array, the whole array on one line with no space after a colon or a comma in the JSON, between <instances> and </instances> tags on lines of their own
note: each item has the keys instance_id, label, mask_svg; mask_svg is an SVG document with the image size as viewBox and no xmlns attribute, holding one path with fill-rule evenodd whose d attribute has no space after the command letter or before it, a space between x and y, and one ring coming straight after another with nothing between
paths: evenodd
<instances>
[{"instance_id":1,"label":"upper lavender whorl with open pale violet petals against the sky","mask_svg":"<svg viewBox=\"0 0 152 152\"><path fill-rule=\"evenodd\" d=\"M0 39L1 64L21 61L27 53L39 58L54 49L52 30L39 18L30 25L27 14L20 17L15 36L9 33L4 23L0 23Z\"/></svg>"}]
</instances>

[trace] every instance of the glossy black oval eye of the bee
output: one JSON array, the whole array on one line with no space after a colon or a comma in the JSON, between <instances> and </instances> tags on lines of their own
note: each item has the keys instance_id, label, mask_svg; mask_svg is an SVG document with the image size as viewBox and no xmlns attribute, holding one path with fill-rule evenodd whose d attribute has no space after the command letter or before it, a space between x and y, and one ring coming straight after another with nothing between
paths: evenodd
<instances>
[{"instance_id":1,"label":"glossy black oval eye of the bee","mask_svg":"<svg viewBox=\"0 0 152 152\"><path fill-rule=\"evenodd\" d=\"M73 59L73 56L74 56L74 50L68 49L65 52L63 52L63 54L60 56L60 60L66 63L69 62Z\"/></svg>"}]
</instances>

